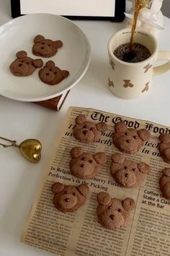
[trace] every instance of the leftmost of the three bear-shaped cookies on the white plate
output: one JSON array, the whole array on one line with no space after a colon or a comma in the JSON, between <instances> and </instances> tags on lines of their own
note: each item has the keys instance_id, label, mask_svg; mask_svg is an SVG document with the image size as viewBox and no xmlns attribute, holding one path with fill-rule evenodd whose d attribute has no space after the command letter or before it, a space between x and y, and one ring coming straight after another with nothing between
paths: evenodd
<instances>
[{"instance_id":1,"label":"leftmost of the three bear-shaped cookies on the white plate","mask_svg":"<svg viewBox=\"0 0 170 256\"><path fill-rule=\"evenodd\" d=\"M26 51L18 51L16 56L17 59L12 62L9 69L17 77L27 77L43 65L42 59L32 59L27 56Z\"/></svg>"}]
</instances>

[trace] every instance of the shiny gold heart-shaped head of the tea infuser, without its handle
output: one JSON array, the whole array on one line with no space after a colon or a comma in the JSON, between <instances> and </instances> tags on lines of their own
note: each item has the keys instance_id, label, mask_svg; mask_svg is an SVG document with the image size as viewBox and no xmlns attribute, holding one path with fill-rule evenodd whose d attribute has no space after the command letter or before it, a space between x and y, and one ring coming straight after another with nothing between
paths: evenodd
<instances>
[{"instance_id":1,"label":"shiny gold heart-shaped head of the tea infuser, without its handle","mask_svg":"<svg viewBox=\"0 0 170 256\"><path fill-rule=\"evenodd\" d=\"M28 139L24 140L19 144L20 153L28 161L32 163L37 163L41 158L42 146L39 140Z\"/></svg>"}]
</instances>

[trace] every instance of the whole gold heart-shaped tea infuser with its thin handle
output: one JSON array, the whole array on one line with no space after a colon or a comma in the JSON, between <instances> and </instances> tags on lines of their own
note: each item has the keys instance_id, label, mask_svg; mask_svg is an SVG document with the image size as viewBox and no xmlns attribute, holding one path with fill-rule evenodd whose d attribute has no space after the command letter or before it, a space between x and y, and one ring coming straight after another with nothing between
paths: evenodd
<instances>
[{"instance_id":1,"label":"whole gold heart-shaped tea infuser with its thin handle","mask_svg":"<svg viewBox=\"0 0 170 256\"><path fill-rule=\"evenodd\" d=\"M4 148L9 148L9 147L18 148L22 156L24 156L24 158L26 158L31 163L37 163L40 161L42 145L39 140L28 139L28 140L22 141L19 145L17 145L16 140L9 140L4 137L0 137L0 139L6 140L8 142L12 142L11 145L6 145L3 143L0 143L0 145L3 146Z\"/></svg>"}]
</instances>

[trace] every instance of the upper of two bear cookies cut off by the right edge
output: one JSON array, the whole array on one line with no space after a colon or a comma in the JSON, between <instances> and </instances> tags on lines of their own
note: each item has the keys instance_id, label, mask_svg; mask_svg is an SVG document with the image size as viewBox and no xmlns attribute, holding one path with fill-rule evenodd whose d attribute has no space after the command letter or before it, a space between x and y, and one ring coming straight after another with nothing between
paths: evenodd
<instances>
[{"instance_id":1,"label":"upper of two bear cookies cut off by the right edge","mask_svg":"<svg viewBox=\"0 0 170 256\"><path fill-rule=\"evenodd\" d=\"M170 163L170 135L162 133L158 138L161 141L158 144L158 150L161 153L161 157L166 163Z\"/></svg>"}]
</instances>

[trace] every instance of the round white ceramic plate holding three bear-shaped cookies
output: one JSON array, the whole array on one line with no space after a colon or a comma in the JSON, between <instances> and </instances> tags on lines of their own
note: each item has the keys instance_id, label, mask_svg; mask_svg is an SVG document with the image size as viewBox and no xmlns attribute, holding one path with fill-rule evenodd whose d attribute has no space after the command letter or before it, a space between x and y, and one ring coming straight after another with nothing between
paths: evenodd
<instances>
[{"instance_id":1,"label":"round white ceramic plate holding three bear-shaped cookies","mask_svg":"<svg viewBox=\"0 0 170 256\"><path fill-rule=\"evenodd\" d=\"M69 76L58 85L47 85L38 77L38 70L29 77L16 77L9 65L16 59L17 51L27 51L32 59L36 35L52 40L62 40L63 47L45 62L53 60L57 67L69 71ZM86 35L71 20L55 14L27 14L0 27L0 95L17 101L44 101L70 90L84 76L90 61L90 45Z\"/></svg>"}]
</instances>

